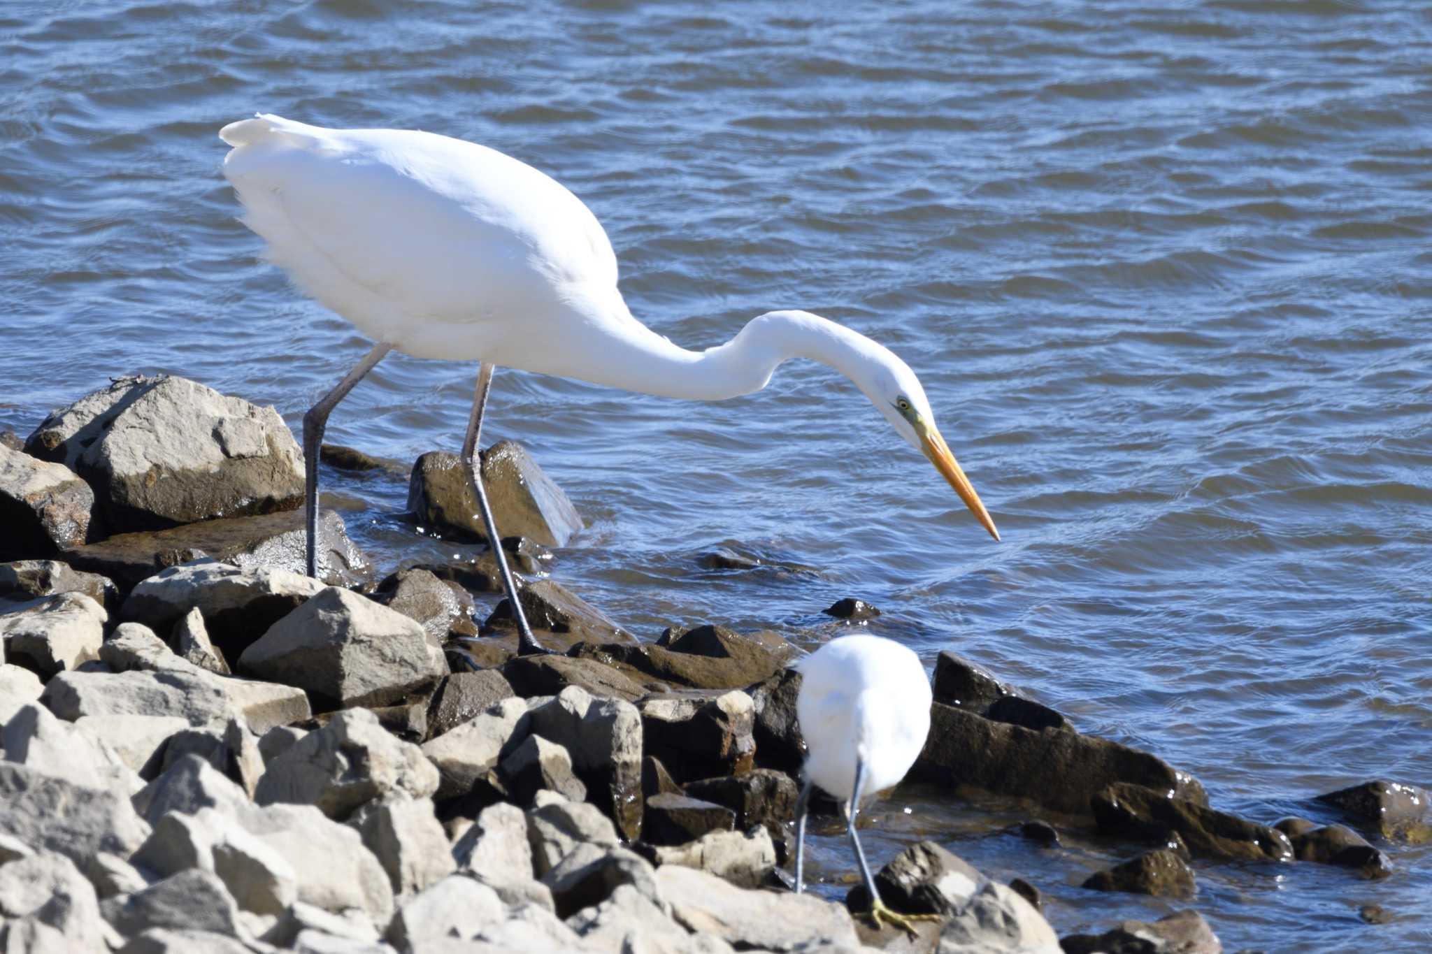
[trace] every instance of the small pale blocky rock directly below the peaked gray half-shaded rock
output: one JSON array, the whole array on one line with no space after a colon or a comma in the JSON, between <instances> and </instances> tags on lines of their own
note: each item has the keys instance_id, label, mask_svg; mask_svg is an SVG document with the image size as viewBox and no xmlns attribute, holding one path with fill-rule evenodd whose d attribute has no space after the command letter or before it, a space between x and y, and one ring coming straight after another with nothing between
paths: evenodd
<instances>
[{"instance_id":1,"label":"small pale blocky rock directly below the peaked gray half-shaded rock","mask_svg":"<svg viewBox=\"0 0 1432 954\"><path fill-rule=\"evenodd\" d=\"M422 891L457 871L442 822L428 798L372 801L354 812L348 824L388 872L397 895Z\"/></svg>"}]
</instances>

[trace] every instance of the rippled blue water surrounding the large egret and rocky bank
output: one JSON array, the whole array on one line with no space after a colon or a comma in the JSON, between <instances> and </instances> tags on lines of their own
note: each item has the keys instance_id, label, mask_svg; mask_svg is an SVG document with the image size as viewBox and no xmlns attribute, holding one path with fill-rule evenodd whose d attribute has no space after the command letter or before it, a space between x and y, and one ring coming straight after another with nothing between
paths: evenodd
<instances>
[{"instance_id":1,"label":"rippled blue water surrounding the large egret and rocky bank","mask_svg":"<svg viewBox=\"0 0 1432 954\"><path fill-rule=\"evenodd\" d=\"M1432 14L1421 0L0 7L0 425L166 370L302 410L367 343L256 262L218 127L255 110L474 139L606 225L687 346L822 312L921 373L995 545L818 366L702 405L498 373L590 522L557 578L634 631L809 638L858 595L1262 821L1432 782ZM329 439L461 439L475 369L384 362ZM326 475L379 565L405 488ZM811 569L713 572L720 545ZM904 808L909 808L908 814ZM1085 892L1128 845L902 790L1061 931L1181 905ZM1432 947L1432 850L1358 881L1200 864L1229 950ZM836 840L818 868L849 870ZM1356 907L1398 917L1365 925Z\"/></svg>"}]
</instances>

